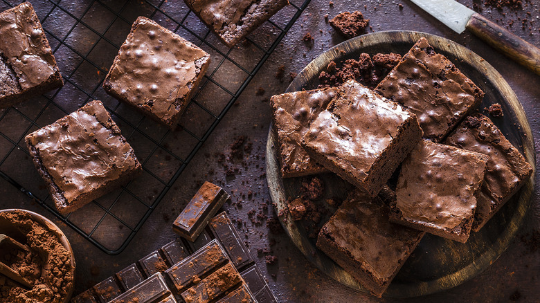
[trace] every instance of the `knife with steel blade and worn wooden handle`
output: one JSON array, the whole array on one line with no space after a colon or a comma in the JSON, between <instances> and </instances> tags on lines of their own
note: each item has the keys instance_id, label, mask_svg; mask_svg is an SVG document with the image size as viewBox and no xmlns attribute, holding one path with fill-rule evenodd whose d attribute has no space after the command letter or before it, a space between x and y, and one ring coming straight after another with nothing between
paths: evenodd
<instances>
[{"instance_id":1,"label":"knife with steel blade and worn wooden handle","mask_svg":"<svg viewBox=\"0 0 540 303\"><path fill-rule=\"evenodd\" d=\"M540 75L540 49L453 0L411 0L456 33L465 29Z\"/></svg>"}]
</instances>

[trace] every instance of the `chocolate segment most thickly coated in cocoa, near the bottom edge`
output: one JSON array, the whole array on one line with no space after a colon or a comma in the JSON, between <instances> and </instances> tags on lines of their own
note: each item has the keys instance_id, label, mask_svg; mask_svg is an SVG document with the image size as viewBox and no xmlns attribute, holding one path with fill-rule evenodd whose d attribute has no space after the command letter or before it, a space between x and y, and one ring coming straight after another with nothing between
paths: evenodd
<instances>
[{"instance_id":1,"label":"chocolate segment most thickly coated in cocoa, near the bottom edge","mask_svg":"<svg viewBox=\"0 0 540 303\"><path fill-rule=\"evenodd\" d=\"M231 263L227 263L184 291L181 296L186 303L208 303L240 283L242 283L240 273Z\"/></svg>"}]
</instances>

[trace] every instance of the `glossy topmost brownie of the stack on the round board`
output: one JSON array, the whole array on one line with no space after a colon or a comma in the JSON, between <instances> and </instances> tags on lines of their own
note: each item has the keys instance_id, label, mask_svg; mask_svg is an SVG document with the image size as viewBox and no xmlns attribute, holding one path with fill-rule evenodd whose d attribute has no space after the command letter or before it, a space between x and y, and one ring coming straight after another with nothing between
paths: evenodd
<instances>
[{"instance_id":1,"label":"glossy topmost brownie of the stack on the round board","mask_svg":"<svg viewBox=\"0 0 540 303\"><path fill-rule=\"evenodd\" d=\"M350 80L301 145L318 163L375 196L421 137L413 113Z\"/></svg>"}]
</instances>

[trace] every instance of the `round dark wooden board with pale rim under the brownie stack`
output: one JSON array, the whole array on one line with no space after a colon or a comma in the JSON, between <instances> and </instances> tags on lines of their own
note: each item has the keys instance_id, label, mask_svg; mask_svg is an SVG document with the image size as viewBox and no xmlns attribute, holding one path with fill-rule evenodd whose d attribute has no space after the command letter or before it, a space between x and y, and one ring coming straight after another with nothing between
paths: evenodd
<instances>
[{"instance_id":1,"label":"round dark wooden board with pale rim under the brownie stack","mask_svg":"<svg viewBox=\"0 0 540 303\"><path fill-rule=\"evenodd\" d=\"M484 59L442 37L418 32L391 31L350 39L327 50L308 64L290 84L287 92L315 89L319 73L332 60L341 62L345 59L358 59L361 53L375 55L393 52L404 55L420 37L426 37L435 51L449 58L462 73L485 91L485 98L479 107L480 112L489 107L489 104L502 105L504 117L494 119L494 123L508 140L519 148L534 168L536 162L530 125L514 91ZM276 135L271 127L267 142L267 181L273 205L280 213L284 210L287 199L299 194L301 181L305 179L281 178L277 156ZM326 197L345 199L351 190L351 185L333 174L321 174L319 177L325 183ZM530 207L533 187L534 179L531 177L482 230L471 234L466 244L426 234L384 296L414 297L436 293L458 286L485 270L502 254L516 235ZM318 228L335 211L335 208L328 206L324 201L319 202L317 205L327 208L327 215L318 224ZM295 222L289 215L280 216L279 219L294 244L323 273L342 284L365 291L351 275L316 248L316 239L308 237L305 221Z\"/></svg>"}]
</instances>

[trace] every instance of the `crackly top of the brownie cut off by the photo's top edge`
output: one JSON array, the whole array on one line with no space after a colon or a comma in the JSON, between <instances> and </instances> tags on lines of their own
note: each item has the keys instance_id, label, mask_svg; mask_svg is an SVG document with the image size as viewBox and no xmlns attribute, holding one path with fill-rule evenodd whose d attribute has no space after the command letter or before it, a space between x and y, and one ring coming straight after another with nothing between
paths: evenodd
<instances>
[{"instance_id":1,"label":"crackly top of the brownie cut off by the photo's top edge","mask_svg":"<svg viewBox=\"0 0 540 303\"><path fill-rule=\"evenodd\" d=\"M206 24L218 33L224 27L238 24L243 15L256 0L186 0Z\"/></svg>"}]
</instances>

